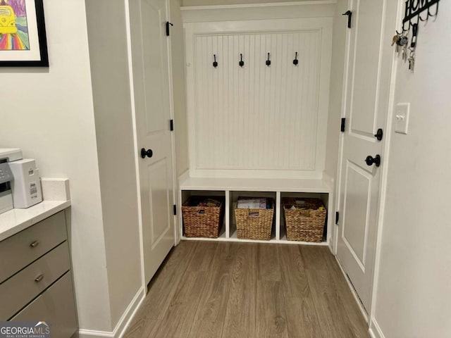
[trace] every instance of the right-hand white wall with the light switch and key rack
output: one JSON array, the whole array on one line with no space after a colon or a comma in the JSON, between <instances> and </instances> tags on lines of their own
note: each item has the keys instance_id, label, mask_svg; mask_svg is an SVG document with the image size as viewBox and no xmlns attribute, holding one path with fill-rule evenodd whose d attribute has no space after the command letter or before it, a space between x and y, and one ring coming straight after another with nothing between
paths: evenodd
<instances>
[{"instance_id":1,"label":"right-hand white wall with the light switch and key rack","mask_svg":"<svg viewBox=\"0 0 451 338\"><path fill-rule=\"evenodd\" d=\"M390 135L375 312L387 338L451 336L450 20L441 1L419 27L415 73L397 61L395 104L411 107L409 133Z\"/></svg>"}]
</instances>

